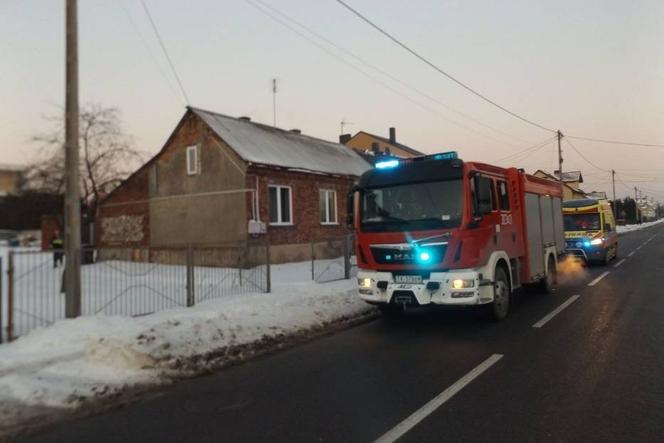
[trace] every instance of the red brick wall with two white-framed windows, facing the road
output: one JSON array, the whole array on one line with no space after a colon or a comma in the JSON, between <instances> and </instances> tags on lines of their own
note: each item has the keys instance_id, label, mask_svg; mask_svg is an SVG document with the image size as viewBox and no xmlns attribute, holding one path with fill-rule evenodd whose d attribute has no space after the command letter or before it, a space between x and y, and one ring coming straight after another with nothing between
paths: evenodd
<instances>
[{"instance_id":1,"label":"red brick wall with two white-framed windows, facing the road","mask_svg":"<svg viewBox=\"0 0 664 443\"><path fill-rule=\"evenodd\" d=\"M261 168L252 166L247 174L247 188L256 187L259 178L259 200L261 221L267 223L267 238L272 245L308 243L312 240L328 239L348 234L346 229L346 200L354 179L332 177ZM269 224L269 185L290 186L293 201L293 225L274 226ZM331 189L337 193L337 224L321 225L319 190ZM247 196L247 214L252 214L252 197Z\"/></svg>"}]
</instances>

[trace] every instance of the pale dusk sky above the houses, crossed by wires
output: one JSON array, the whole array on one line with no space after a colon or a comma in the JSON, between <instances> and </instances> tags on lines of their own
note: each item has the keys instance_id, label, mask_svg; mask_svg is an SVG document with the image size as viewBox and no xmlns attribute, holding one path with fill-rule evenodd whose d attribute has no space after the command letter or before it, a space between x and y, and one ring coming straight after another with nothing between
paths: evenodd
<instances>
[{"instance_id":1,"label":"pale dusk sky above the houses, crossed by wires","mask_svg":"<svg viewBox=\"0 0 664 443\"><path fill-rule=\"evenodd\" d=\"M387 136L394 126L398 141L426 153L456 150L529 172L557 166L554 141L513 155L552 133L473 96L335 0L145 2L192 106L272 124L277 78L285 129L337 140L342 121L350 133ZM660 0L347 2L529 120L664 144ZM64 0L0 0L0 163L33 159L31 136L62 112L64 23ZM136 147L156 153L187 101L140 0L79 0L79 59L81 103L117 107ZM584 190L610 197L615 169L618 197L638 186L664 202L664 148L570 141L593 163L563 141L563 170L582 170Z\"/></svg>"}]
</instances>

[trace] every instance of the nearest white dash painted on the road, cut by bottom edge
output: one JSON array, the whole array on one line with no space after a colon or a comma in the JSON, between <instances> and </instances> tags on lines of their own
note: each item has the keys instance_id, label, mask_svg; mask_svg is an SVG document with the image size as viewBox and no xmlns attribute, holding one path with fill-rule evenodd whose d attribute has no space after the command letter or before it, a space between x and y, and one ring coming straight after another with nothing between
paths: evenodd
<instances>
[{"instance_id":1,"label":"nearest white dash painted on the road, cut by bottom edge","mask_svg":"<svg viewBox=\"0 0 664 443\"><path fill-rule=\"evenodd\" d=\"M493 354L491 357L484 360L482 363L476 366L475 369L457 380L452 386L445 389L404 421L383 434L378 440L376 440L376 443L391 443L402 437L406 432L410 431L413 427L415 427L415 425L424 420L428 415L445 404L445 402L447 402L450 398L454 397L456 393L466 387L466 385L468 385L471 381L482 375L484 371L497 363L501 358L503 358L502 354Z\"/></svg>"}]
</instances>

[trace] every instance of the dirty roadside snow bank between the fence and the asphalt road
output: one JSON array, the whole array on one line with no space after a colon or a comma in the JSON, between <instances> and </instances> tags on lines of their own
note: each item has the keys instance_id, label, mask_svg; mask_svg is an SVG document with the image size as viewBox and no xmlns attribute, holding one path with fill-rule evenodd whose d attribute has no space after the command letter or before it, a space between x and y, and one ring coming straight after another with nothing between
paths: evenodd
<instances>
[{"instance_id":1,"label":"dirty roadside snow bank between the fence and the asphalt road","mask_svg":"<svg viewBox=\"0 0 664 443\"><path fill-rule=\"evenodd\" d=\"M371 312L357 297L354 279L296 281L295 275L303 278L299 266L274 266L270 294L144 317L63 320L0 346L0 429L48 408L73 409L127 387L204 371L287 336Z\"/></svg>"}]
</instances>

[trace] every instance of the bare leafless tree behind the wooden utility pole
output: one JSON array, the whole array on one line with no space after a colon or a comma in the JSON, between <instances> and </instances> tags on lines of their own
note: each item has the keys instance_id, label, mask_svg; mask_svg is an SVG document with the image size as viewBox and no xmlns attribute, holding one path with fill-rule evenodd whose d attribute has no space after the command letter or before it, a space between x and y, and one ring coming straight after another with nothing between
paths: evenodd
<instances>
[{"instance_id":1,"label":"bare leafless tree behind the wooden utility pole","mask_svg":"<svg viewBox=\"0 0 664 443\"><path fill-rule=\"evenodd\" d=\"M28 169L28 189L64 192L64 119L47 117L50 131L35 135L42 153ZM88 103L80 113L79 146L81 198L94 206L140 164L144 155L133 147L133 139L122 129L120 111L98 103Z\"/></svg>"}]
</instances>

